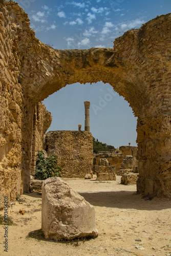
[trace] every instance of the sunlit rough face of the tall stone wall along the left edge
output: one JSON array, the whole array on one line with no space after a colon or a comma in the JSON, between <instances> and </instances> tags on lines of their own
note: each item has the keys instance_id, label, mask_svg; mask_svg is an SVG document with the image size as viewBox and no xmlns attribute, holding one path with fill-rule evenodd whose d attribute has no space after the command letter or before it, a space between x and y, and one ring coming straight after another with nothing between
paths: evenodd
<instances>
[{"instance_id":1,"label":"sunlit rough face of the tall stone wall along the left edge","mask_svg":"<svg viewBox=\"0 0 171 256\"><path fill-rule=\"evenodd\" d=\"M18 83L20 61L16 51L16 25L8 15L8 3L0 2L0 208L4 195L14 201L23 193L22 164L23 120L27 100ZM14 10L15 12L15 10ZM16 15L16 14L15 14ZM14 33L13 33L14 32Z\"/></svg>"}]
</instances>

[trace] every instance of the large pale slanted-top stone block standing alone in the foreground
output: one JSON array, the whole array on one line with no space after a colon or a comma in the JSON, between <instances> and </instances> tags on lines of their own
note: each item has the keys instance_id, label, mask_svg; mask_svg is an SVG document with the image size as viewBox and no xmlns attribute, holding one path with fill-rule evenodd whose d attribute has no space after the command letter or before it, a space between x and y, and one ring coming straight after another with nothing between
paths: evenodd
<instances>
[{"instance_id":1,"label":"large pale slanted-top stone block standing alone in the foreground","mask_svg":"<svg viewBox=\"0 0 171 256\"><path fill-rule=\"evenodd\" d=\"M97 237L94 207L58 177L42 184L41 229L46 239Z\"/></svg>"}]
</instances>

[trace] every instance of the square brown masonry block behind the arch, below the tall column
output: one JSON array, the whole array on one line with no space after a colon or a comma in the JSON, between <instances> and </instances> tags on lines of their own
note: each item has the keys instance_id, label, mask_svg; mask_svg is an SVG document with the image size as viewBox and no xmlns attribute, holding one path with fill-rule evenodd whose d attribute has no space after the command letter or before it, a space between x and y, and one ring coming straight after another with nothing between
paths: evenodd
<instances>
[{"instance_id":1,"label":"square brown masonry block behind the arch, below the tall column","mask_svg":"<svg viewBox=\"0 0 171 256\"><path fill-rule=\"evenodd\" d=\"M93 167L93 136L86 131L51 131L46 134L46 151L57 155L62 177L84 178Z\"/></svg>"}]
</instances>

